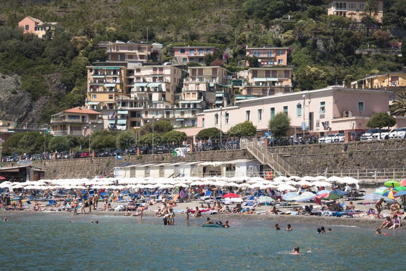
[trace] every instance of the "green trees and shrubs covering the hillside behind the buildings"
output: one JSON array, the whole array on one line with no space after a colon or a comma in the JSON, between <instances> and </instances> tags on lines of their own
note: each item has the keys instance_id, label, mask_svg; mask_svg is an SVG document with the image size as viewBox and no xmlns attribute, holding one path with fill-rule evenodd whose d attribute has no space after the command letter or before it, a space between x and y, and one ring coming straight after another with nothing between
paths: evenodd
<instances>
[{"instance_id":1,"label":"green trees and shrubs covering the hillside behind the buildings","mask_svg":"<svg viewBox=\"0 0 406 271\"><path fill-rule=\"evenodd\" d=\"M293 15L294 20L282 22L286 14ZM400 70L405 65L405 49L403 57L396 52L403 37L390 36L386 31L405 28L405 0L385 1L383 24L378 30L367 31L367 21L354 25L347 18L326 14L322 0L3 1L0 93L29 93L33 106L18 116L0 112L0 119L8 116L16 121L46 123L52 114L83 105L85 67L106 59L103 50L94 49L100 41L216 44L228 48L228 54L217 57L230 71L240 69L237 63L247 45L290 47L288 62L294 67L295 90L342 81L349 84L367 74ZM63 28L55 31L53 39L23 35L17 25L25 16L57 21ZM360 53L367 48L377 53ZM163 55L161 59L169 58ZM8 75L20 77L16 89L2 89L2 80ZM31 110L37 113L30 114Z\"/></svg>"}]
</instances>

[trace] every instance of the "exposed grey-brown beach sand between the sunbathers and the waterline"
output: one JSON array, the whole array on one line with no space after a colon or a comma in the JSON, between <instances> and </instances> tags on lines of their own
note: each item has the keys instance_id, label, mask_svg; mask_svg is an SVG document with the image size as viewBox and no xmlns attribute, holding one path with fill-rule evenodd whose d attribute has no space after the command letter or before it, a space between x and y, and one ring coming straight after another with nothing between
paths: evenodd
<instances>
[{"instance_id":1,"label":"exposed grey-brown beach sand between the sunbathers and the waterline","mask_svg":"<svg viewBox=\"0 0 406 271\"><path fill-rule=\"evenodd\" d=\"M365 191L364 194L373 193L375 191L374 188L367 188L367 189L360 189ZM343 199L340 199L340 203ZM272 206L258 206L255 208L255 214L205 214L202 213L203 217L212 218L215 221L233 221L233 220L257 220L257 221L275 221L276 223L303 223L303 224L314 224L314 225L324 225L324 226L357 226L357 227L365 227L365 228L376 228L380 226L383 222L383 219L376 219L370 218L367 216L366 211L374 207L373 205L361 205L358 202L366 202L367 200L357 200L353 201L356 210L364 211L361 213L360 217L330 217L330 216L311 216L311 215L269 215L265 214L265 212L269 211ZM40 204L45 205L45 202L39 202ZM31 201L31 206L28 210L32 209L34 202ZM191 201L191 202L179 202L177 206L174 207L174 211L176 212L176 216L178 217L185 217L184 210L186 207L188 208L195 208L200 207L202 201ZM349 201L345 200L345 204L349 205ZM126 202L112 202L112 207L115 208L117 205L127 205ZM293 204L293 207L304 206L304 205L313 205L316 206L314 203L307 203L307 204ZM162 206L162 204L157 204L154 206L149 206L148 210L143 212L143 217L154 217L155 211ZM207 205L204 204L206 207ZM88 209L86 208L86 214L80 214L80 210L78 210L78 216L89 216L89 215L96 215L96 216L124 216L124 212L122 211L101 211L103 210L103 204L99 202L98 210L93 211L92 213L88 213ZM286 212L292 210L292 206L283 206L277 207L280 211ZM43 207L45 211L41 212L32 212L32 211L0 211L0 216L2 218L8 217L12 219L13 216L21 216L21 215L58 215L58 214L72 214L72 212L65 212L65 211L50 211L51 207ZM133 213L133 212L131 212ZM389 215L390 212L387 209L384 209L384 214ZM138 218L134 218L138 219ZM153 218L157 220L162 220L162 217ZM193 218L190 218L192 221ZM404 229L406 227L402 226L400 229Z\"/></svg>"}]
</instances>

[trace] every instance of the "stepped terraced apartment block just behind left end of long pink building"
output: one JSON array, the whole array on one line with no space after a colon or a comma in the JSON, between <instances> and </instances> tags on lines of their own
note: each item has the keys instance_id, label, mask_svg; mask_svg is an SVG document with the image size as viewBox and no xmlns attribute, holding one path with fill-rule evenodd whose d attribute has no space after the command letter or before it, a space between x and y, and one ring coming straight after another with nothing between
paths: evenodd
<instances>
[{"instance_id":1,"label":"stepped terraced apartment block just behind left end of long pink building","mask_svg":"<svg viewBox=\"0 0 406 271\"><path fill-rule=\"evenodd\" d=\"M184 82L183 91L175 103L200 104L201 108L225 106L229 104L227 74L220 66L197 66L188 68L189 76Z\"/></svg>"}]
</instances>

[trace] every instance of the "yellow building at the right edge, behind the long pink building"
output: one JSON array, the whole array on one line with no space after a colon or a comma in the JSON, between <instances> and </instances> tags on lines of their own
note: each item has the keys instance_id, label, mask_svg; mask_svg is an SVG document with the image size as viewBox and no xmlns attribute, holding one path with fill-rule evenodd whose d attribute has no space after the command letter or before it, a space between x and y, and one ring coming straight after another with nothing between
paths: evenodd
<instances>
[{"instance_id":1,"label":"yellow building at the right edge, behind the long pink building","mask_svg":"<svg viewBox=\"0 0 406 271\"><path fill-rule=\"evenodd\" d=\"M406 87L406 67L399 72L371 75L351 82L351 88L385 88L396 90Z\"/></svg>"}]
</instances>

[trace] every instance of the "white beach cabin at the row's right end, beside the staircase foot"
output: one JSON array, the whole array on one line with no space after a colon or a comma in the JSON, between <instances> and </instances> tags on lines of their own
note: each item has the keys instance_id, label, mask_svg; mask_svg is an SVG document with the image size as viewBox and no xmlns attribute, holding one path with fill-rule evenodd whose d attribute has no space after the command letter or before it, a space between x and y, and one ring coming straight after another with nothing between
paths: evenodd
<instances>
[{"instance_id":1,"label":"white beach cabin at the row's right end, beside the staircase foot","mask_svg":"<svg viewBox=\"0 0 406 271\"><path fill-rule=\"evenodd\" d=\"M259 174L258 160L236 159L222 162L221 176L225 177L241 177L241 176L256 176Z\"/></svg>"}]
</instances>

